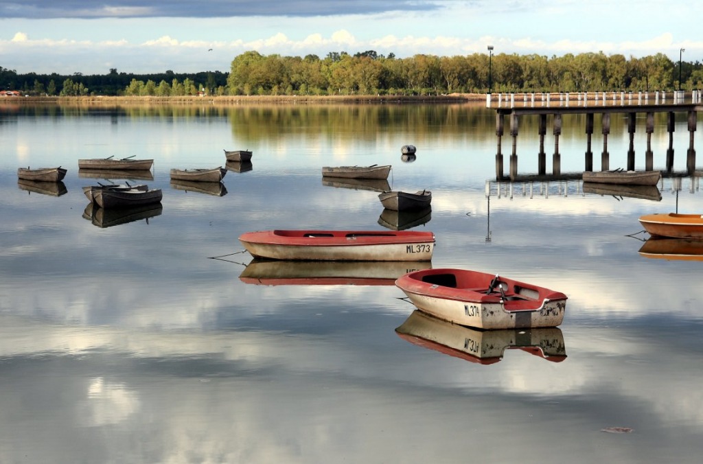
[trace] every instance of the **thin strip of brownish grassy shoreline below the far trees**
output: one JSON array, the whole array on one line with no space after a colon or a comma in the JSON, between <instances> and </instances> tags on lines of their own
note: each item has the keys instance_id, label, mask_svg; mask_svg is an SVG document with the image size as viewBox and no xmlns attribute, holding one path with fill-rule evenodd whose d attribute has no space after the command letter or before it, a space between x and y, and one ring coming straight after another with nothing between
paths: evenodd
<instances>
[{"instance_id":1,"label":"thin strip of brownish grassy shoreline below the far trees","mask_svg":"<svg viewBox=\"0 0 703 464\"><path fill-rule=\"evenodd\" d=\"M193 104L208 103L212 105L238 104L289 104L289 103L467 103L485 102L485 94L450 94L450 95L232 95L232 96L27 96L0 98L0 105L22 103L55 104Z\"/></svg>"}]
</instances>

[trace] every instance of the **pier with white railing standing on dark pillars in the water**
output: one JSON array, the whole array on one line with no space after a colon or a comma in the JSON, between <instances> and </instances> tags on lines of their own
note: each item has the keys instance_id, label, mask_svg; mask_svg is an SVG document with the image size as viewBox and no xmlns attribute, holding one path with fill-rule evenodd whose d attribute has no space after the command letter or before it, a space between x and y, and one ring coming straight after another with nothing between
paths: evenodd
<instances>
[{"instance_id":1,"label":"pier with white railing standing on dark pillars in the water","mask_svg":"<svg viewBox=\"0 0 703 464\"><path fill-rule=\"evenodd\" d=\"M652 133L654 132L654 113L666 113L666 131L669 132L669 148L666 150L666 164L664 174L673 171L673 132L676 112L685 112L688 115L688 150L686 153L686 174L695 173L696 153L694 149L694 133L697 127L697 112L703 110L702 92L693 91L685 98L681 91L669 92L638 92L633 98L630 92L596 92L580 94L520 94L521 98L515 99L515 94L498 95L497 104L495 96L486 96L486 106L496 110L496 179L505 179L503 167L503 153L501 139L504 133L505 116L510 119L510 136L512 136L512 153L510 154L510 167L508 178L515 180L517 171L517 134L519 132L520 116L536 115L538 117L539 153L538 174L546 174L546 152L544 138L547 132L547 116L553 118L552 134L554 135L554 153L552 155L552 174L561 174L561 154L559 152L559 136L562 132L562 115L586 115L586 153L584 158L584 171L593 171L593 152L591 151L591 136L593 135L593 117L595 113L602 115L601 134L603 147L600 155L600 167L603 171L610 169L610 153L607 148L608 135L610 134L610 115L612 113L625 114L627 117L627 130L630 136L627 152L627 169L635 169L634 136L636 131L637 113L645 113L647 133L647 148L645 150L645 170L654 170L654 153L652 152ZM651 98L650 98L651 96ZM554 98L554 101L552 101ZM571 98L574 98L573 103Z\"/></svg>"}]
</instances>

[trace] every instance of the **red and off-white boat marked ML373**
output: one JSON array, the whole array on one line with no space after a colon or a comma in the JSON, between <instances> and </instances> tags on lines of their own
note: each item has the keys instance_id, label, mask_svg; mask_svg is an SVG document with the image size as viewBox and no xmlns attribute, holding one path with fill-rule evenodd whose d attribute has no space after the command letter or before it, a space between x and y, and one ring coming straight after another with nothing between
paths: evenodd
<instances>
[{"instance_id":1,"label":"red and off-white boat marked ML373","mask_svg":"<svg viewBox=\"0 0 703 464\"><path fill-rule=\"evenodd\" d=\"M239 237L255 258L309 261L430 261L432 232L257 231Z\"/></svg>"}]
</instances>

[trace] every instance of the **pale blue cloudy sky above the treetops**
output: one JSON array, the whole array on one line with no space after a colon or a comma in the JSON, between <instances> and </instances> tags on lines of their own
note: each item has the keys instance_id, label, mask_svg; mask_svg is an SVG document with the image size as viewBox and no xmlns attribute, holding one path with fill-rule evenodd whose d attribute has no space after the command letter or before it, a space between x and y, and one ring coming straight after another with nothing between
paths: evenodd
<instances>
[{"instance_id":1,"label":"pale blue cloudy sky above the treetops","mask_svg":"<svg viewBox=\"0 0 703 464\"><path fill-rule=\"evenodd\" d=\"M240 53L398 57L602 51L700 61L703 1L0 0L0 66L20 73L227 72ZM212 49L212 50L211 50Z\"/></svg>"}]
</instances>

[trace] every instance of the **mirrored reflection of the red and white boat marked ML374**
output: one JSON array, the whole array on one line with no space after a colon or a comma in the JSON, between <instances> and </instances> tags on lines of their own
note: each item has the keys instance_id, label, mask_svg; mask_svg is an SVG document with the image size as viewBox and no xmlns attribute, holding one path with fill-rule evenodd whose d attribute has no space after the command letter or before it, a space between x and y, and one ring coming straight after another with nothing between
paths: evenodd
<instances>
[{"instance_id":1,"label":"mirrored reflection of the red and white boat marked ML374","mask_svg":"<svg viewBox=\"0 0 703 464\"><path fill-rule=\"evenodd\" d=\"M567 357L564 336L556 327L477 330L441 321L415 309L396 328L396 333L420 347L479 364L501 361L506 349L520 349L557 363Z\"/></svg>"}]
</instances>

